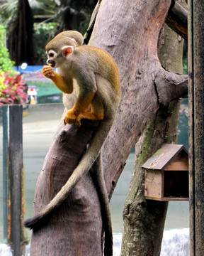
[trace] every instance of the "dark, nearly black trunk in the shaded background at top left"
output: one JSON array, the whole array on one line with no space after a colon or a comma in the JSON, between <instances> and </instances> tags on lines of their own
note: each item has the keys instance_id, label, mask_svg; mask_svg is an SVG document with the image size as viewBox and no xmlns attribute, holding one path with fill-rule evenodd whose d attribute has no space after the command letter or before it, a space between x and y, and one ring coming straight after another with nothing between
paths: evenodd
<instances>
[{"instance_id":1,"label":"dark, nearly black trunk in the shaded background at top left","mask_svg":"<svg viewBox=\"0 0 204 256\"><path fill-rule=\"evenodd\" d=\"M28 0L18 0L16 18L9 24L8 50L15 65L33 65L33 14Z\"/></svg>"}]
</instances>

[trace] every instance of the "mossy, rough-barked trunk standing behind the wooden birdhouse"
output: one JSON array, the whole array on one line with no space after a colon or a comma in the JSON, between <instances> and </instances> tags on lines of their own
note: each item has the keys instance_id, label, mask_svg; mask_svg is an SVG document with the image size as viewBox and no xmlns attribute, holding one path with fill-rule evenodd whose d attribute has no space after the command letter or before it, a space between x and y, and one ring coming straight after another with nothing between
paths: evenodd
<instances>
[{"instance_id":1,"label":"mossy, rough-barked trunk standing behind the wooden birdhouse","mask_svg":"<svg viewBox=\"0 0 204 256\"><path fill-rule=\"evenodd\" d=\"M182 73L183 40L168 26L159 36L159 60L164 68ZM159 256L168 202L145 200L142 165L164 143L177 142L180 101L160 107L135 148L135 166L123 210L122 254Z\"/></svg>"}]
</instances>

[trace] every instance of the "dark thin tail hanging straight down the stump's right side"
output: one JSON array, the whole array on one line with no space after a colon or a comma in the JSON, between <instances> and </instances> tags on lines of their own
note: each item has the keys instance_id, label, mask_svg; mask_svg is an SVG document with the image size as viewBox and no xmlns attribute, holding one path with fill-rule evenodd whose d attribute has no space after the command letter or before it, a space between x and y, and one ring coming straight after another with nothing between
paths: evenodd
<instances>
[{"instance_id":1,"label":"dark thin tail hanging straight down the stump's right side","mask_svg":"<svg viewBox=\"0 0 204 256\"><path fill-rule=\"evenodd\" d=\"M103 230L105 232L104 256L113 256L113 231L111 225L111 213L109 209L108 193L103 177L102 157L98 155L91 167L91 178L94 181L98 198L101 203L101 215L103 220Z\"/></svg>"}]
</instances>

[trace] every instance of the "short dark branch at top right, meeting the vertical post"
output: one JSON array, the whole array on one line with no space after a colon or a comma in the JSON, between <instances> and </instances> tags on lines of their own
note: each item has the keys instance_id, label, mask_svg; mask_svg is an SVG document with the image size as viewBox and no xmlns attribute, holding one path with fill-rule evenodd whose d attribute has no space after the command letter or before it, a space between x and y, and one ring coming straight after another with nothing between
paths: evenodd
<instances>
[{"instance_id":1,"label":"short dark branch at top right, meeting the vertical post","mask_svg":"<svg viewBox=\"0 0 204 256\"><path fill-rule=\"evenodd\" d=\"M188 38L188 11L181 4L175 3L166 17L166 24L182 38Z\"/></svg>"}]
</instances>

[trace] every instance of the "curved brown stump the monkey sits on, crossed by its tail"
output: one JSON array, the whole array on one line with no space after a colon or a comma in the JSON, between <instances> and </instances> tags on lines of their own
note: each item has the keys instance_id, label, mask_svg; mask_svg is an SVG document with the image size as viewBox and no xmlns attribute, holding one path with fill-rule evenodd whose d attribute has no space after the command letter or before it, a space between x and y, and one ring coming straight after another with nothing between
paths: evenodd
<instances>
[{"instance_id":1,"label":"curved brown stump the monkey sits on, crossed by its tail","mask_svg":"<svg viewBox=\"0 0 204 256\"><path fill-rule=\"evenodd\" d=\"M85 121L81 128L64 127L61 120L35 187L34 213L45 207L71 176L96 126L96 122ZM33 231L31 255L101 255L101 234L100 203L87 174L43 228Z\"/></svg>"}]
</instances>

